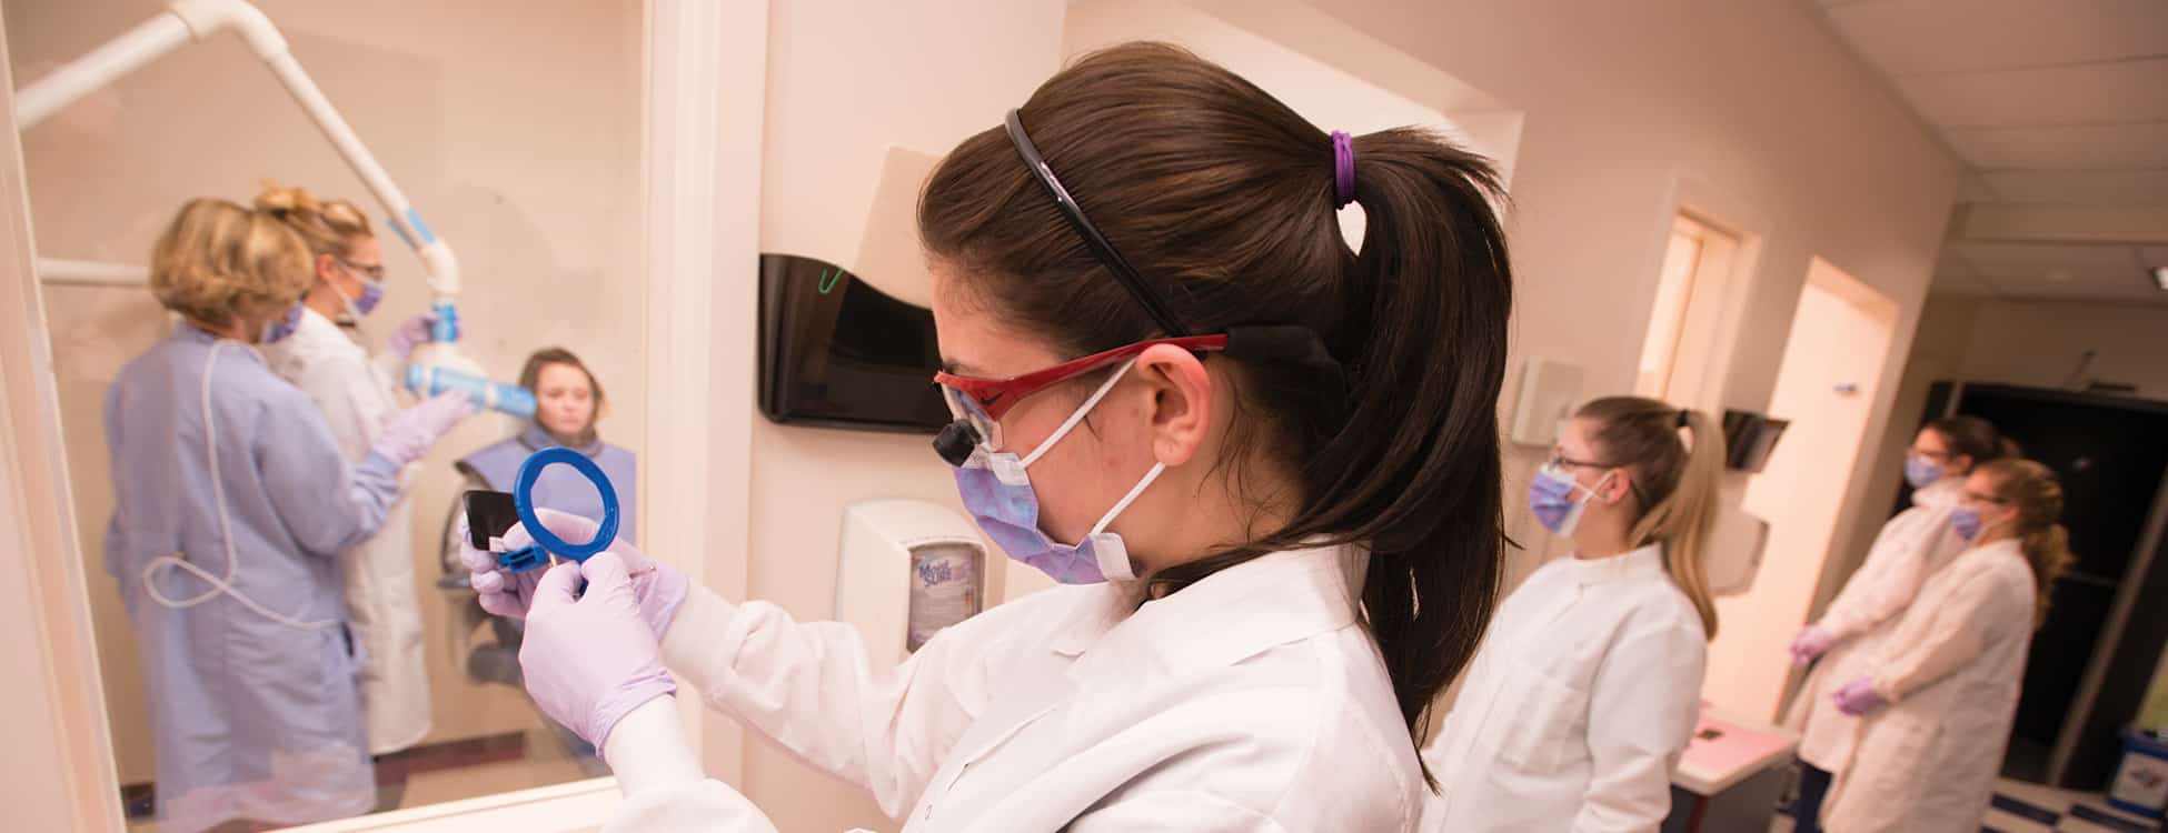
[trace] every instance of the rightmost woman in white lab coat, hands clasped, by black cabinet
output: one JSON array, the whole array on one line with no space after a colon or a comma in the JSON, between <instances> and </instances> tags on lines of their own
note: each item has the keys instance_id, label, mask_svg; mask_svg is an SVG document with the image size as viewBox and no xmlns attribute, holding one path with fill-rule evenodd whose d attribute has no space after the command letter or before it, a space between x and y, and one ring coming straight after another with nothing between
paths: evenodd
<instances>
[{"instance_id":1,"label":"rightmost woman in white lab coat, hands clasped, by black cabinet","mask_svg":"<svg viewBox=\"0 0 2168 833\"><path fill-rule=\"evenodd\" d=\"M2062 485L2047 465L1984 463L1951 526L1969 547L1862 649L1830 701L1843 759L1823 805L1832 833L1977 831L1995 794L2049 589L2070 567Z\"/></svg>"}]
</instances>

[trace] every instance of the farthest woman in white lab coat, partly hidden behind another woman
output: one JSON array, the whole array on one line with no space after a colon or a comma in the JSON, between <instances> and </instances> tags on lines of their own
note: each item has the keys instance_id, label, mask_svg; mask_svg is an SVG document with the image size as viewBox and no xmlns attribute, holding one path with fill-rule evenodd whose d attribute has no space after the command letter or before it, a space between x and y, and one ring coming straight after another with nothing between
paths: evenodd
<instances>
[{"instance_id":1,"label":"farthest woman in white lab coat, partly hidden behind another woman","mask_svg":"<svg viewBox=\"0 0 2168 833\"><path fill-rule=\"evenodd\" d=\"M1860 569L1821 619L1793 638L1795 664L1821 660L1786 712L1786 725L1799 731L1795 833L1819 829L1832 772L1843 768L1851 749L1856 720L1836 712L1830 695L1860 673L1860 656L1884 638L1886 625L1912 604L1927 578L1964 552L1964 541L1949 530L1949 515L1958 511L1964 478L1975 465L2012 454L2016 446L1975 415L1940 418L1921 426L1904 461L1912 506L1882 524Z\"/></svg>"}]
</instances>

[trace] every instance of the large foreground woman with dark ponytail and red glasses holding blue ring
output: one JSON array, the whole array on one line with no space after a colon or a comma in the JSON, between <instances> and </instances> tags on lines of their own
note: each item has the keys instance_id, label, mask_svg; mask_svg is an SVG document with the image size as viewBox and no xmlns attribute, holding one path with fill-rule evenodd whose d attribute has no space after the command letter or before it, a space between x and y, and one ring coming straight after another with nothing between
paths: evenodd
<instances>
[{"instance_id":1,"label":"large foreground woman with dark ponytail and red glasses holding blue ring","mask_svg":"<svg viewBox=\"0 0 2168 833\"><path fill-rule=\"evenodd\" d=\"M1010 569L1064 586L898 666L622 541L540 586L468 552L475 586L527 612L529 692L618 772L609 829L774 829L702 781L668 664L906 831L1409 831L1411 738L1500 569L1496 184L1175 48L1091 54L919 201L956 413L934 446Z\"/></svg>"}]
</instances>

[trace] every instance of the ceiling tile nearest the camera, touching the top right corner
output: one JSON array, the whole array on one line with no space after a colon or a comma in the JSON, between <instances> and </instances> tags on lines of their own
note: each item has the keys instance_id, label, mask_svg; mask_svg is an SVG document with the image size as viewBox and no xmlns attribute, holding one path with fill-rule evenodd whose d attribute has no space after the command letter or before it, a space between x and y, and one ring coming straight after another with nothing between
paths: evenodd
<instances>
[{"instance_id":1,"label":"ceiling tile nearest the camera, touching the top right corner","mask_svg":"<svg viewBox=\"0 0 2168 833\"><path fill-rule=\"evenodd\" d=\"M1884 0L1825 13L1893 76L2168 54L2161 0Z\"/></svg>"}]
</instances>

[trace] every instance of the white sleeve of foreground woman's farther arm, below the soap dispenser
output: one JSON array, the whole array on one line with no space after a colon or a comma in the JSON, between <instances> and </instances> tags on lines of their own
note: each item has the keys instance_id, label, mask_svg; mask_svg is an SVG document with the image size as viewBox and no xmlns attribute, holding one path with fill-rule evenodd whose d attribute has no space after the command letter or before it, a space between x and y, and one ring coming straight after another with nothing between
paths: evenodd
<instances>
[{"instance_id":1,"label":"white sleeve of foreground woman's farther arm, below the soap dispenser","mask_svg":"<svg viewBox=\"0 0 2168 833\"><path fill-rule=\"evenodd\" d=\"M846 623L800 623L774 604L731 604L696 586L663 636L663 662L707 705L869 790L895 818L984 710L989 640L1028 606L986 610L902 664L874 669Z\"/></svg>"}]
</instances>

